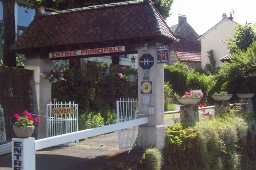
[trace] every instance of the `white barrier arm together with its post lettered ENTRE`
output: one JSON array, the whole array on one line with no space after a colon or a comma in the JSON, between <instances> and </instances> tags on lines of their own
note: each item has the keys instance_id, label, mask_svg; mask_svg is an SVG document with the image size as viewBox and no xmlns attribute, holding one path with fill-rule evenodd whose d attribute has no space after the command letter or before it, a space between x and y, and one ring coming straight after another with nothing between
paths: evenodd
<instances>
[{"instance_id":1,"label":"white barrier arm together with its post lettered ENTRE","mask_svg":"<svg viewBox=\"0 0 256 170\"><path fill-rule=\"evenodd\" d=\"M143 125L146 123L148 123L148 117L134 119L127 122L116 123L113 125L96 127L93 129L81 130L59 136L52 136L45 139L35 140L35 138L13 138L12 169L35 170L35 150L55 146L62 143L67 143L70 141L76 141L79 139L84 139L92 136L97 136L105 133L110 133L116 130L121 130L123 128Z\"/></svg>"}]
</instances>

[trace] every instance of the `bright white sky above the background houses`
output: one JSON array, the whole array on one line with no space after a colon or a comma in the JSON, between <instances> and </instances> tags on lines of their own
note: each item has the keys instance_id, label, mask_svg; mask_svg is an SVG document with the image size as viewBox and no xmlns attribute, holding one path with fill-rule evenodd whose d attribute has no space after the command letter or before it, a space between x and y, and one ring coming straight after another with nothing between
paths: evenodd
<instances>
[{"instance_id":1,"label":"bright white sky above the background houses","mask_svg":"<svg viewBox=\"0 0 256 170\"><path fill-rule=\"evenodd\" d=\"M245 22L256 23L255 0L174 0L168 26L178 23L178 14L186 15L187 23L198 33L204 34L222 20L222 14L230 16L233 21L244 25Z\"/></svg>"}]
</instances>

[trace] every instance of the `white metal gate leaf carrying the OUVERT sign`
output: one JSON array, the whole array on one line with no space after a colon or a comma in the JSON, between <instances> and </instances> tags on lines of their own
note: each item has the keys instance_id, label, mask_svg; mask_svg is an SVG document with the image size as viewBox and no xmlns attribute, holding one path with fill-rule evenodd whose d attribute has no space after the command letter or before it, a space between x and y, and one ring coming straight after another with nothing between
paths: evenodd
<instances>
[{"instance_id":1,"label":"white metal gate leaf carrying the OUVERT sign","mask_svg":"<svg viewBox=\"0 0 256 170\"><path fill-rule=\"evenodd\" d=\"M75 113L72 114L54 114L53 108L73 108ZM54 102L47 104L46 108L47 115L47 126L46 134L47 137L62 135L66 133L78 131L78 104L74 102ZM72 141L64 143L62 145L78 144L79 141Z\"/></svg>"}]
</instances>

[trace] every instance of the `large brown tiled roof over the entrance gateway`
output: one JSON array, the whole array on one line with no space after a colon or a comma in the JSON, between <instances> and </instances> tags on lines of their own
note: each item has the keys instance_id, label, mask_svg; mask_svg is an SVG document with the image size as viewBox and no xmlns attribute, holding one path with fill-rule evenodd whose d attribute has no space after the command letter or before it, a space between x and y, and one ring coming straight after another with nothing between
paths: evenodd
<instances>
[{"instance_id":1,"label":"large brown tiled roof over the entrance gateway","mask_svg":"<svg viewBox=\"0 0 256 170\"><path fill-rule=\"evenodd\" d=\"M151 1L130 1L37 16L11 49L25 51L150 36L178 40Z\"/></svg>"}]
</instances>

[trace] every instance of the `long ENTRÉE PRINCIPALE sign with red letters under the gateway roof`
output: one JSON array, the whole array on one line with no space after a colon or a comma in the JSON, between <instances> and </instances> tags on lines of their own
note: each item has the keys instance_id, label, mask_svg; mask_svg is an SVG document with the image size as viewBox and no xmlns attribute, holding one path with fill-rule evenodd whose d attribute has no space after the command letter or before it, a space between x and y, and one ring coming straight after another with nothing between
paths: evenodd
<instances>
[{"instance_id":1,"label":"long ENTR\u00c9E PRINCIPALE sign with red letters under the gateway roof","mask_svg":"<svg viewBox=\"0 0 256 170\"><path fill-rule=\"evenodd\" d=\"M116 53L116 52L122 52L122 51L125 51L125 46L53 52L53 53L49 53L49 58L73 57L73 56L92 55L92 54L104 54L104 53Z\"/></svg>"}]
</instances>

